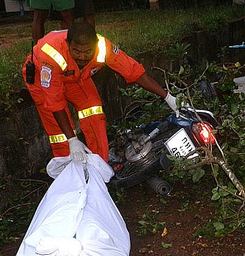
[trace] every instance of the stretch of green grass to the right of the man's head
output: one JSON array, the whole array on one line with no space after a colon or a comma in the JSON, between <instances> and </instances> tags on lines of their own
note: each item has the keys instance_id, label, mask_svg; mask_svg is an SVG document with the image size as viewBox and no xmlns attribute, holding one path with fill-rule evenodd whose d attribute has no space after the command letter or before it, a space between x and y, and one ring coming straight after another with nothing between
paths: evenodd
<instances>
[{"instance_id":1,"label":"stretch of green grass to the right of the man's head","mask_svg":"<svg viewBox=\"0 0 245 256\"><path fill-rule=\"evenodd\" d=\"M209 7L200 10L134 10L96 16L97 31L119 45L129 55L158 50L179 41L195 30L219 33L227 21L244 17L244 6Z\"/></svg>"}]
</instances>

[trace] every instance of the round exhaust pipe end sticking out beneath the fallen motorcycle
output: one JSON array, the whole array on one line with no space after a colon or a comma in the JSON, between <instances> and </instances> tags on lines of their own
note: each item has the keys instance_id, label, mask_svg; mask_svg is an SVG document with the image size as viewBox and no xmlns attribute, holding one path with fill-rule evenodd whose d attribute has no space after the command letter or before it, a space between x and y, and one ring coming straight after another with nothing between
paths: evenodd
<instances>
[{"instance_id":1,"label":"round exhaust pipe end sticking out beneath the fallen motorcycle","mask_svg":"<svg viewBox=\"0 0 245 256\"><path fill-rule=\"evenodd\" d=\"M147 183L160 196L168 196L172 191L171 185L159 177L151 177L147 180Z\"/></svg>"}]
</instances>

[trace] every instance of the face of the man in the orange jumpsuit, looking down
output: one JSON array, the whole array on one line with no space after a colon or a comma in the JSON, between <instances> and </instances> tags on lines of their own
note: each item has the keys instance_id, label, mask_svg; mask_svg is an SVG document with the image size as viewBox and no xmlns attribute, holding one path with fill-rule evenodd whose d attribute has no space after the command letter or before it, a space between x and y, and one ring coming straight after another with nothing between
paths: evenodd
<instances>
[{"instance_id":1,"label":"face of the man in the orange jumpsuit, looking down","mask_svg":"<svg viewBox=\"0 0 245 256\"><path fill-rule=\"evenodd\" d=\"M94 57L94 52L96 47L94 44L80 45L75 42L70 42L69 52L75 62L78 64L78 67L84 68L89 61Z\"/></svg>"}]
</instances>

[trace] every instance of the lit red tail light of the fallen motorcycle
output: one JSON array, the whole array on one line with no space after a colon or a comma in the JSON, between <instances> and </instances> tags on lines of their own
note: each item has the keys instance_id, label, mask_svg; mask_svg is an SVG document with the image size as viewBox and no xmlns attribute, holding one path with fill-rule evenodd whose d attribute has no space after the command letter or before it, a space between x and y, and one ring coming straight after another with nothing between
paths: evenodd
<instances>
[{"instance_id":1,"label":"lit red tail light of the fallen motorcycle","mask_svg":"<svg viewBox=\"0 0 245 256\"><path fill-rule=\"evenodd\" d=\"M198 144L215 144L215 136L208 123L192 123L191 131Z\"/></svg>"}]
</instances>

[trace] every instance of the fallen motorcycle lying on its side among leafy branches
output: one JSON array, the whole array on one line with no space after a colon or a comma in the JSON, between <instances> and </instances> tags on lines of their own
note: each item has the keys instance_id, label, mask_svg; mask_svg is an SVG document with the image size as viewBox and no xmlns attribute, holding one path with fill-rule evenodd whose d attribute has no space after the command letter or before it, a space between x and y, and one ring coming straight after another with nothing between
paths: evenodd
<instances>
[{"instance_id":1,"label":"fallen motorcycle lying on its side among leafy branches","mask_svg":"<svg viewBox=\"0 0 245 256\"><path fill-rule=\"evenodd\" d=\"M148 182L159 195L169 195L171 185L157 177L160 171L173 168L168 156L185 157L197 147L215 144L212 130L216 126L212 112L182 107L178 118L173 112L162 120L125 130L109 152L109 165L121 164L109 185L127 189ZM195 160L197 153L190 158Z\"/></svg>"}]
</instances>

